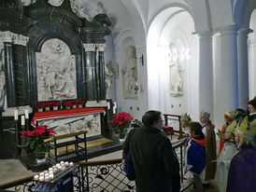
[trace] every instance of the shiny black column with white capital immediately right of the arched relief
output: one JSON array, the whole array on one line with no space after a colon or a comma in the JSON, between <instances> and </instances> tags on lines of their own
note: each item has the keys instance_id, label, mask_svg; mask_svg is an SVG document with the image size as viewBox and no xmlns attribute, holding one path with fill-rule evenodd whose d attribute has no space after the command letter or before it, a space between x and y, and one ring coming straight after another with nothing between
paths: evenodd
<instances>
[{"instance_id":1,"label":"shiny black column with white capital immediately right of the arched relief","mask_svg":"<svg viewBox=\"0 0 256 192\"><path fill-rule=\"evenodd\" d=\"M96 74L95 74L95 45L83 44L85 51L85 99L88 101L95 100L97 95Z\"/></svg>"}]
</instances>

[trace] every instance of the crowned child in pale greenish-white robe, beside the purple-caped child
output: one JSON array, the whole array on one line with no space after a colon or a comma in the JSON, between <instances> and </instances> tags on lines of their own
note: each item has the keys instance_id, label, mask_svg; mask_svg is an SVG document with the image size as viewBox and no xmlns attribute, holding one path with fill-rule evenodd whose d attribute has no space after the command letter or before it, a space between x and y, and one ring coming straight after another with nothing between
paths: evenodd
<instances>
[{"instance_id":1,"label":"crowned child in pale greenish-white robe, beside the purple-caped child","mask_svg":"<svg viewBox=\"0 0 256 192\"><path fill-rule=\"evenodd\" d=\"M220 192L226 192L229 165L236 152L235 125L235 123L232 123L228 126L227 130L225 130L225 143L223 144L223 148L220 152L220 157L217 160L217 178L219 180L218 185Z\"/></svg>"}]
</instances>

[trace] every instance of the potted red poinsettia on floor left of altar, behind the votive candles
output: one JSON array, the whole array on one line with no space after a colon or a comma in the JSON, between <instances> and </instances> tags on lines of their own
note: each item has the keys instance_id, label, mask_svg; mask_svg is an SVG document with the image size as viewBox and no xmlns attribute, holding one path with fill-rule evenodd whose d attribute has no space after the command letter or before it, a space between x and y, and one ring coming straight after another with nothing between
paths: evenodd
<instances>
[{"instance_id":1,"label":"potted red poinsettia on floor left of altar, behind the votive candles","mask_svg":"<svg viewBox=\"0 0 256 192\"><path fill-rule=\"evenodd\" d=\"M56 134L54 130L48 129L46 125L36 126L35 130L21 131L21 137L25 138L25 144L34 150L36 158L44 158L47 151L47 146L44 143L45 139L48 139Z\"/></svg>"}]
</instances>

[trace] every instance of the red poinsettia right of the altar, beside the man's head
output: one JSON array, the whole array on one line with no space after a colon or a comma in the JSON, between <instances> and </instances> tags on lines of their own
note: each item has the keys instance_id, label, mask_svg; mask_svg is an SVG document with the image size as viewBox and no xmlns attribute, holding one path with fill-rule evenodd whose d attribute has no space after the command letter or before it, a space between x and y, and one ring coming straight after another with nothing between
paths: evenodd
<instances>
[{"instance_id":1,"label":"red poinsettia right of the altar, beside the man's head","mask_svg":"<svg viewBox=\"0 0 256 192\"><path fill-rule=\"evenodd\" d=\"M127 132L133 119L134 117L132 117L130 114L127 114L126 112L119 113L118 115L112 117L112 120L110 120L110 123L112 124L112 130L114 130L115 133Z\"/></svg>"}]
</instances>

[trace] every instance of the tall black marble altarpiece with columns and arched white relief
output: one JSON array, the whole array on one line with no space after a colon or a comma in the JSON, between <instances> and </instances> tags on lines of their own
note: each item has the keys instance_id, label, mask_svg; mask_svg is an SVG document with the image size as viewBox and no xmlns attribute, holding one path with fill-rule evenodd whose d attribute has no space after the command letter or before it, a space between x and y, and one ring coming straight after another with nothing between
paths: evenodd
<instances>
[{"instance_id":1,"label":"tall black marble altarpiece with columns and arched white relief","mask_svg":"<svg viewBox=\"0 0 256 192\"><path fill-rule=\"evenodd\" d=\"M0 0L3 45L0 77L6 79L5 84L0 83L4 88L0 92L0 112L29 105L35 113L35 104L46 101L106 101L104 37L110 34L111 22L100 5L97 11L92 11L81 8L79 3L77 0ZM108 102L111 104L110 109L105 105L107 116L100 120L103 136L110 134L107 119L112 116L113 103ZM0 129L7 130L1 131L0 136L8 138L3 150L8 149L7 153L12 154L15 146L10 148L9 141L15 141L15 136L8 130L13 130L13 116L0 118ZM73 123L79 127L81 121L86 124L99 120L90 117ZM66 124L74 127L71 121Z\"/></svg>"}]
</instances>

